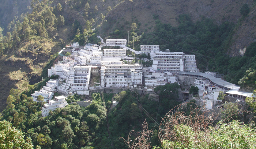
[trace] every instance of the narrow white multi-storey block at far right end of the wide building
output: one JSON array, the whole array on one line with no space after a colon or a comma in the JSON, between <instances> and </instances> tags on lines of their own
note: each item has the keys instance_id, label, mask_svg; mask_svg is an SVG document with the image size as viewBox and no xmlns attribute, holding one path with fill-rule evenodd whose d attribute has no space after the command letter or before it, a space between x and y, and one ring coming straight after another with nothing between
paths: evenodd
<instances>
[{"instance_id":1,"label":"narrow white multi-storey block at far right end of the wide building","mask_svg":"<svg viewBox=\"0 0 256 149\"><path fill-rule=\"evenodd\" d=\"M184 62L185 62L184 71L197 72L195 55L184 55Z\"/></svg>"}]
</instances>

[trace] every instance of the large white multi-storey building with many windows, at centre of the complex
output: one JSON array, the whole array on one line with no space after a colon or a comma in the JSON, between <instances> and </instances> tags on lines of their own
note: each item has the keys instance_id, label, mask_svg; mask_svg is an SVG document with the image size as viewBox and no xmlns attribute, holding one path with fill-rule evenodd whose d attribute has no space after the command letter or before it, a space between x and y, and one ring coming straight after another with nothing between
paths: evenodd
<instances>
[{"instance_id":1,"label":"large white multi-storey building with many windows, at centre of the complex","mask_svg":"<svg viewBox=\"0 0 256 149\"><path fill-rule=\"evenodd\" d=\"M142 65L114 64L101 67L102 87L137 87L142 84Z\"/></svg>"}]
</instances>

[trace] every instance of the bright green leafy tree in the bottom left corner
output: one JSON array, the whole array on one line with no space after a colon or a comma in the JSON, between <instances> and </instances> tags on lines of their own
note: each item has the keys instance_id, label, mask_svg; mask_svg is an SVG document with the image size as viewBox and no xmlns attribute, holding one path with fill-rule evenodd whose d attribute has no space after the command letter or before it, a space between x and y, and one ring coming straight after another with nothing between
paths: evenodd
<instances>
[{"instance_id":1,"label":"bright green leafy tree in the bottom left corner","mask_svg":"<svg viewBox=\"0 0 256 149\"><path fill-rule=\"evenodd\" d=\"M1 149L33 149L31 138L24 140L22 131L13 127L11 122L0 121L0 134Z\"/></svg>"}]
</instances>

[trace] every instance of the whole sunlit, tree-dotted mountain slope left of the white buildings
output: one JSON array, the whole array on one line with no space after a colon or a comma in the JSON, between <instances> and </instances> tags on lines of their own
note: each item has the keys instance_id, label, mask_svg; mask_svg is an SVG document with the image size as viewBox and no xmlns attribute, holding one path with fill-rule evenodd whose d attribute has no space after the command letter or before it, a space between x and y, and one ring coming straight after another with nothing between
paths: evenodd
<instances>
[{"instance_id":1,"label":"whole sunlit, tree-dotted mountain slope left of the white buildings","mask_svg":"<svg viewBox=\"0 0 256 149\"><path fill-rule=\"evenodd\" d=\"M10 14L8 19L12 20L12 9L23 8L25 11L30 2L31 0L27 0L23 4L25 1L1 1L0 4L11 9L1 9L1 17L7 18L7 14ZM85 10L87 2L89 8ZM11 5L13 3L15 4ZM102 0L33 0L33 12L23 16L28 18L26 23L22 23L23 18L20 23L15 17L16 20L9 24L10 30L8 27L3 28L11 33L7 33L2 41L0 39L0 83L3 84L0 87L0 111L6 106L11 88L25 90L22 86L24 82L34 84L40 81L42 70L54 58L52 55L73 40L78 29L83 33L85 28L90 30L101 24L101 17L118 3L120 2ZM19 14L19 11L14 12ZM8 19L4 21L5 26L8 25Z\"/></svg>"}]
</instances>

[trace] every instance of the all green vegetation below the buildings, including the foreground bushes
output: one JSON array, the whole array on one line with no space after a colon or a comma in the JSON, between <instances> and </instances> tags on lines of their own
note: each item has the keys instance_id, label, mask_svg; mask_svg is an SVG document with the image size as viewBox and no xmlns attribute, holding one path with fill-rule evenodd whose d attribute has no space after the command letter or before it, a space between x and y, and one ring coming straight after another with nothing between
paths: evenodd
<instances>
[{"instance_id":1,"label":"all green vegetation below the buildings, including the foreground bushes","mask_svg":"<svg viewBox=\"0 0 256 149\"><path fill-rule=\"evenodd\" d=\"M154 89L159 101L136 90L104 93L105 109L100 93L91 94L93 103L87 107L70 104L84 98L75 94L67 98L68 106L42 117L41 107L45 102L34 102L27 96L42 83L45 82L29 85L22 93L17 89L10 91L7 108L1 114L0 132L4 136L11 130L14 132L10 137L0 137L3 148L144 149L154 146L183 149L200 146L207 149L221 146L246 149L256 146L254 98L247 100L251 105L248 110L227 102L216 115L202 112L195 100L181 104L177 100L180 85L166 84ZM111 107L112 98L119 101L116 107ZM6 143L10 140L14 143Z\"/></svg>"}]
</instances>

